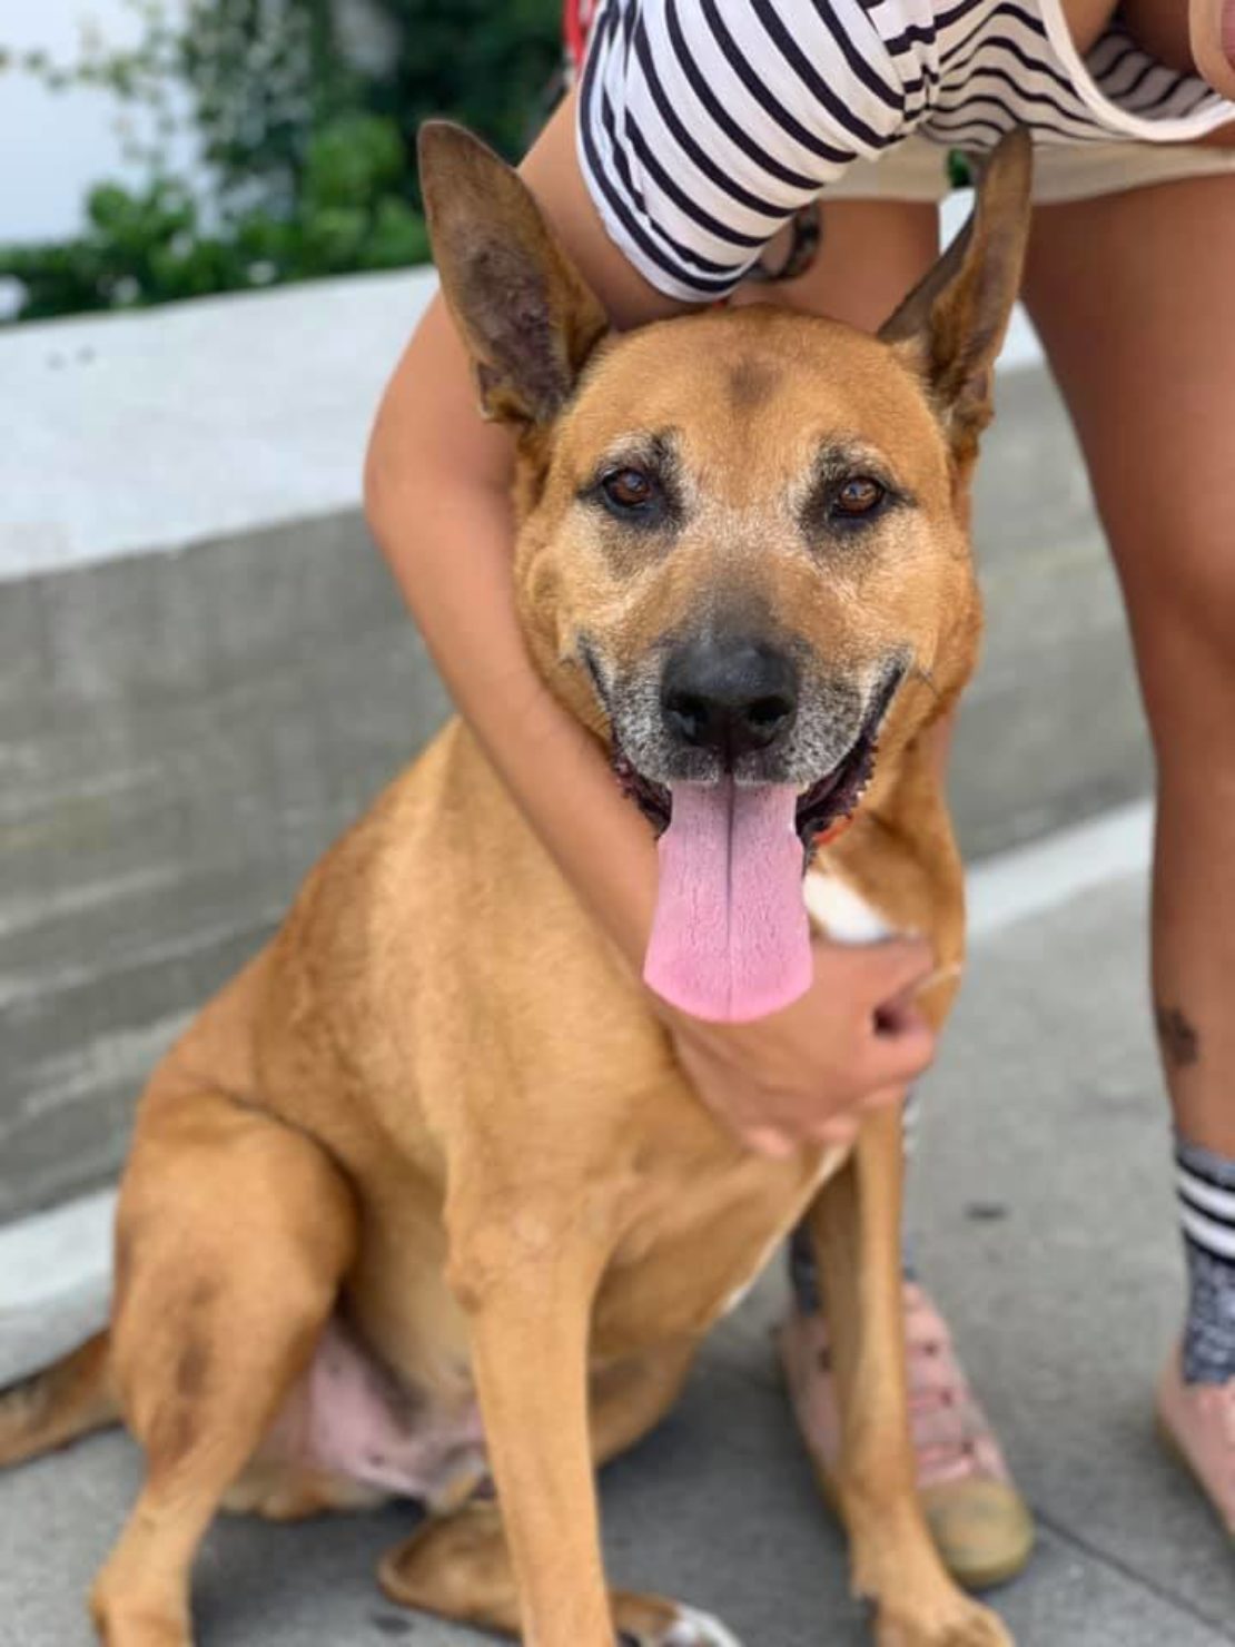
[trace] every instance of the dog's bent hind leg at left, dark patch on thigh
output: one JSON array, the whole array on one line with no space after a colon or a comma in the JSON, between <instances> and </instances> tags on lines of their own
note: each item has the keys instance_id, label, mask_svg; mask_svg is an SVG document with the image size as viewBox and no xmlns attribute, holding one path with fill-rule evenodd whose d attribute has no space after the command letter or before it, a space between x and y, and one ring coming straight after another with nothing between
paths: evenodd
<instances>
[{"instance_id":1,"label":"dog's bent hind leg at left, dark patch on thigh","mask_svg":"<svg viewBox=\"0 0 1235 1647\"><path fill-rule=\"evenodd\" d=\"M112 1374L147 1453L92 1594L107 1647L189 1647L189 1570L313 1354L356 1240L328 1156L272 1117L165 1080L120 1197Z\"/></svg>"}]
</instances>

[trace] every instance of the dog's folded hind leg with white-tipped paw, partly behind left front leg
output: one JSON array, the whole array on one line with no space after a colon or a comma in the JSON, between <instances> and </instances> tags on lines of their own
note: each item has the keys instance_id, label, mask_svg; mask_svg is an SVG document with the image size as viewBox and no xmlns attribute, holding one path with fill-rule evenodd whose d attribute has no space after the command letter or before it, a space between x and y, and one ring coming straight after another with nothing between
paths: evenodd
<instances>
[{"instance_id":1,"label":"dog's folded hind leg with white-tipped paw, partly behind left front leg","mask_svg":"<svg viewBox=\"0 0 1235 1647\"><path fill-rule=\"evenodd\" d=\"M659 1423L685 1382L693 1352L693 1344L665 1346L594 1377L591 1430L598 1464ZM519 1584L492 1500L474 1499L454 1515L418 1528L385 1556L380 1581L387 1596L405 1607L519 1634ZM723 1624L662 1596L613 1591L609 1609L622 1647L738 1647Z\"/></svg>"}]
</instances>

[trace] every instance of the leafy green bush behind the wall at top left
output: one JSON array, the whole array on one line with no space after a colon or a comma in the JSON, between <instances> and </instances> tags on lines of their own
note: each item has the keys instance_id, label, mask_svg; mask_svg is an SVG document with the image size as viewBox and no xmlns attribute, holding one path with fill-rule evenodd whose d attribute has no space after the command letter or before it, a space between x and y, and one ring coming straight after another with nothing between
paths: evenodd
<instances>
[{"instance_id":1,"label":"leafy green bush behind the wall at top left","mask_svg":"<svg viewBox=\"0 0 1235 1647\"><path fill-rule=\"evenodd\" d=\"M390 46L367 68L331 0L188 0L176 23L161 0L130 3L143 20L132 51L66 68L0 49L0 71L54 91L109 89L147 132L127 145L147 181L96 184L81 236L0 247L16 320L423 262L420 122L451 115L517 158L560 58L558 0L367 0ZM212 178L204 201L168 170L175 87Z\"/></svg>"}]
</instances>

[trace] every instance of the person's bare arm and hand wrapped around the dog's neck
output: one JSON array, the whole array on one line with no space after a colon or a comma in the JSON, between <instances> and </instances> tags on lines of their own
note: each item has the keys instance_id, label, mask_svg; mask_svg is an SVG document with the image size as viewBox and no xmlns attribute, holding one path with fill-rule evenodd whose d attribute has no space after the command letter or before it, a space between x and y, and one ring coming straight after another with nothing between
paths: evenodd
<instances>
[{"instance_id":1,"label":"person's bare arm and hand wrapped around the dog's neck","mask_svg":"<svg viewBox=\"0 0 1235 1647\"><path fill-rule=\"evenodd\" d=\"M580 176L570 99L522 173L619 326L680 308L609 242ZM468 361L436 300L385 392L366 509L425 642L486 754L562 873L636 970L655 903L655 845L603 751L552 697L519 631L512 586L512 438L484 423ZM568 796L570 802L563 804ZM578 820L586 819L586 828ZM924 945L815 947L809 995L759 1024L705 1026L657 1003L703 1097L748 1141L820 1136L869 1094L929 1061L917 1015L876 1013L930 968Z\"/></svg>"}]
</instances>

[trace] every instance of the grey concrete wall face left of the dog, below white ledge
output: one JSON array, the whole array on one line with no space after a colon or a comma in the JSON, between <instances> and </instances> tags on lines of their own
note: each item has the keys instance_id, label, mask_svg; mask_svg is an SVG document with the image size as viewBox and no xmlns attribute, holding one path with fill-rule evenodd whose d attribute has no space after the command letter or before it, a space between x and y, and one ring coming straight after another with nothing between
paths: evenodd
<instances>
[{"instance_id":1,"label":"grey concrete wall face left of the dog, below white ledge","mask_svg":"<svg viewBox=\"0 0 1235 1647\"><path fill-rule=\"evenodd\" d=\"M0 1219L109 1174L181 1015L445 715L356 514L0 595Z\"/></svg>"}]
</instances>

